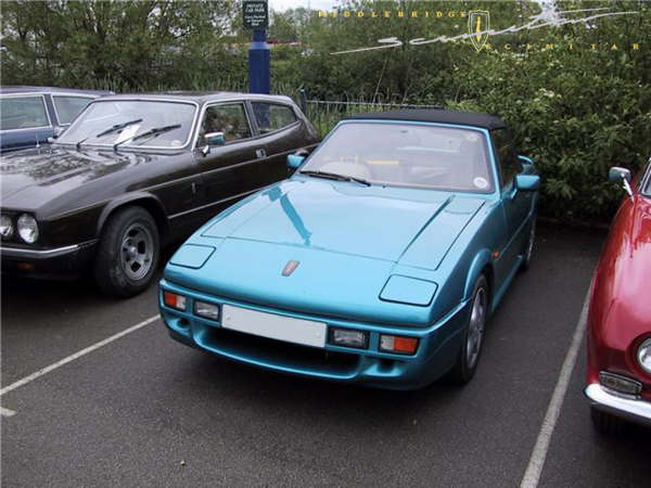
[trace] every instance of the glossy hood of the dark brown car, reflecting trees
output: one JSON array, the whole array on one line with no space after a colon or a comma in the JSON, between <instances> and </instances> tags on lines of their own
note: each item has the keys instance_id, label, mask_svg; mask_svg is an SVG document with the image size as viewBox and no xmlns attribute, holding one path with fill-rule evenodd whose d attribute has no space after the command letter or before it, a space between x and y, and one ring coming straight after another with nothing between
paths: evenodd
<instances>
[{"instance_id":1,"label":"glossy hood of the dark brown car, reflecting trees","mask_svg":"<svg viewBox=\"0 0 651 488\"><path fill-rule=\"evenodd\" d=\"M36 209L79 185L158 156L111 150L48 146L2 154L0 205Z\"/></svg>"}]
</instances>

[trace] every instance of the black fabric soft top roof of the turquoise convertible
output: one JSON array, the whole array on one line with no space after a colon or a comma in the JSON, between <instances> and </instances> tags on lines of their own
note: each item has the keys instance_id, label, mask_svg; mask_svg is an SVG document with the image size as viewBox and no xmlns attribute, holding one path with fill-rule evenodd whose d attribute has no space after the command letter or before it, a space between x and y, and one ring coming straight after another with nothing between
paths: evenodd
<instances>
[{"instance_id":1,"label":"black fabric soft top roof of the turquoise convertible","mask_svg":"<svg viewBox=\"0 0 651 488\"><path fill-rule=\"evenodd\" d=\"M494 115L480 114L476 112L448 111L444 108L368 112L346 118L459 124L461 126L482 127L484 129L500 129L507 127L501 118Z\"/></svg>"}]
</instances>

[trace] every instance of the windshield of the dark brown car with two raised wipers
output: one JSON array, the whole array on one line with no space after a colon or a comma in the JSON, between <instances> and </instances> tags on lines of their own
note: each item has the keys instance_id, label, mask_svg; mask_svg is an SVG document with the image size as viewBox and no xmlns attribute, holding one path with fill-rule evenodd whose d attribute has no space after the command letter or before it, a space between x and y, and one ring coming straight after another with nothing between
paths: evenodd
<instances>
[{"instance_id":1,"label":"windshield of the dark brown car with two raised wipers","mask_svg":"<svg viewBox=\"0 0 651 488\"><path fill-rule=\"evenodd\" d=\"M56 140L63 144L120 147L182 147L190 140L196 107L183 102L105 100L91 103ZM162 127L155 137L139 134ZM123 143L124 142L124 143Z\"/></svg>"}]
</instances>

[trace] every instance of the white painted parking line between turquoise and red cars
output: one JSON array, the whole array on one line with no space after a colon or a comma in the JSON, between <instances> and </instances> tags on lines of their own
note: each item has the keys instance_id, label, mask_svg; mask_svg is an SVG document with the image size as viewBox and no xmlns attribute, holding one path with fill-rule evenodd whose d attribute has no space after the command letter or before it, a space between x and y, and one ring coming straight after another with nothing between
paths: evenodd
<instances>
[{"instance_id":1,"label":"white painted parking line between turquoise and red cars","mask_svg":"<svg viewBox=\"0 0 651 488\"><path fill-rule=\"evenodd\" d=\"M578 349L580 348L580 343L586 331L591 287L592 286L590 283L590 286L588 287L588 293L586 294L586 299L584 300L583 309L580 310L578 323L576 324L576 329L574 330L574 336L572 337L570 349L567 349L567 354L565 355L565 361L563 362L563 367L561 368L561 373L559 374L559 380L557 382L556 388L553 389L551 400L549 400L547 413L545 413L545 420L542 421L542 425L540 426L540 433L538 434L536 446L534 447L534 451L532 452L532 457L529 459L528 465L526 466L526 471L524 473L524 477L522 478L522 483L520 484L520 488L535 488L538 486L538 481L540 480L540 474L542 473L542 466L545 465L545 460L547 459L547 451L549 450L549 441L551 440L553 428L556 427L557 421L559 420L561 407L563 406L563 400L565 398L565 393L567 391L567 386L570 385L572 370L574 370L574 364L576 363L576 356L578 355Z\"/></svg>"}]
</instances>

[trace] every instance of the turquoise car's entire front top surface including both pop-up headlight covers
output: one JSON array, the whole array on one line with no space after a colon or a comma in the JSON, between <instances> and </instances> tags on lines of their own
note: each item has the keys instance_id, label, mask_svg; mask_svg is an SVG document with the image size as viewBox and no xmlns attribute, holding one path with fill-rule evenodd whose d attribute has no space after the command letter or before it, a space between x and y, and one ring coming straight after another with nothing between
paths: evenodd
<instances>
[{"instance_id":1,"label":"turquoise car's entire front top surface including both pop-up headlight covers","mask_svg":"<svg viewBox=\"0 0 651 488\"><path fill-rule=\"evenodd\" d=\"M424 326L433 319L435 269L483 204L293 179L204 226L173 256L165 278L241 301ZM285 275L290 261L297 266ZM399 278L390 284L392 277Z\"/></svg>"}]
</instances>

